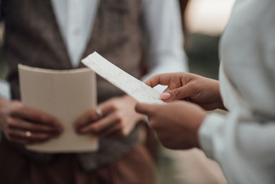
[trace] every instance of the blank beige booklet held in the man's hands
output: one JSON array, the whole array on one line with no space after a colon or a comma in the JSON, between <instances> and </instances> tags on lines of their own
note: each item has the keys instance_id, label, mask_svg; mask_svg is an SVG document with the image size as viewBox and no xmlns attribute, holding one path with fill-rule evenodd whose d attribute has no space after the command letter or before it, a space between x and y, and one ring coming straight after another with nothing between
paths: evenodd
<instances>
[{"instance_id":1,"label":"blank beige booklet held in the man's hands","mask_svg":"<svg viewBox=\"0 0 275 184\"><path fill-rule=\"evenodd\" d=\"M96 107L96 74L88 68L45 70L19 65L21 100L24 105L52 114L64 132L56 139L27 146L37 152L92 152L98 139L76 134L73 123L80 115Z\"/></svg>"}]
</instances>

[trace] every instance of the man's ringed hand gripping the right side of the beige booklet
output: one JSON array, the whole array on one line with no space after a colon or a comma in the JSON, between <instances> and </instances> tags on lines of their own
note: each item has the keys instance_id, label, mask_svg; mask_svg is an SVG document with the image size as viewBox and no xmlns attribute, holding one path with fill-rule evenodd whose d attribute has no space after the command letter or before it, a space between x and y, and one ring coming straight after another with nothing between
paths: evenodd
<instances>
[{"instance_id":1,"label":"man's ringed hand gripping the right side of the beige booklet","mask_svg":"<svg viewBox=\"0 0 275 184\"><path fill-rule=\"evenodd\" d=\"M137 121L144 117L135 112L136 103L137 101L128 95L100 103L96 109L89 110L76 120L76 132L112 138L127 136ZM96 110L102 113L99 114Z\"/></svg>"}]
</instances>

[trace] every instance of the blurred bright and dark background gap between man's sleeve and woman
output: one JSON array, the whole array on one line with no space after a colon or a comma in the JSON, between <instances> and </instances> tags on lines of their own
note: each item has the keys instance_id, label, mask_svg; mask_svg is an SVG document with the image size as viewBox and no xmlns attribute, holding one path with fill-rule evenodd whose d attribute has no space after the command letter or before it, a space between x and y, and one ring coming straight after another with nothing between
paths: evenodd
<instances>
[{"instance_id":1,"label":"blurred bright and dark background gap between man's sleeve and woman","mask_svg":"<svg viewBox=\"0 0 275 184\"><path fill-rule=\"evenodd\" d=\"M219 69L219 38L235 0L181 1L184 12L185 50L190 71L214 79ZM184 9L186 6L186 9Z\"/></svg>"}]
</instances>

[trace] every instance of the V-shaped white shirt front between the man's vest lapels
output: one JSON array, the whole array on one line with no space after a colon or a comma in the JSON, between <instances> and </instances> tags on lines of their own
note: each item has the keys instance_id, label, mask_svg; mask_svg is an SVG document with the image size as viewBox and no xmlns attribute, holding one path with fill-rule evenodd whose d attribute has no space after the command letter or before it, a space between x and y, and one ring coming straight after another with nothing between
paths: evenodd
<instances>
[{"instance_id":1,"label":"V-shaped white shirt front between the man's vest lapels","mask_svg":"<svg viewBox=\"0 0 275 184\"><path fill-rule=\"evenodd\" d=\"M74 67L78 66L94 25L98 0L51 0Z\"/></svg>"}]
</instances>

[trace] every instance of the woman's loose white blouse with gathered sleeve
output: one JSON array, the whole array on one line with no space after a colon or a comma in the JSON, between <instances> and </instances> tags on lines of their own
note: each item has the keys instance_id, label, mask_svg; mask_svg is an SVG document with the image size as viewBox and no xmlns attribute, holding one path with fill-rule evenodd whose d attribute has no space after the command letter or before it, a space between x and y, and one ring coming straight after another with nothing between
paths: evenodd
<instances>
[{"instance_id":1,"label":"woman's loose white blouse with gathered sleeve","mask_svg":"<svg viewBox=\"0 0 275 184\"><path fill-rule=\"evenodd\" d=\"M274 10L274 0L237 0L221 39L220 88L229 113L209 114L199 140L228 183L275 183Z\"/></svg>"}]
</instances>

